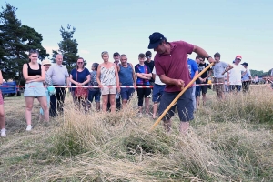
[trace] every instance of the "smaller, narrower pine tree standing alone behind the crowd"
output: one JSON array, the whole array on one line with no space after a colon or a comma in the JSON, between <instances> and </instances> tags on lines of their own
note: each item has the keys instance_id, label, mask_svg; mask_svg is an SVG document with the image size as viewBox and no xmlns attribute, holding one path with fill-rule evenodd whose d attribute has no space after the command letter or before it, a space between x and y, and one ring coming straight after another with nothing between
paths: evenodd
<instances>
[{"instance_id":1,"label":"smaller, narrower pine tree standing alone behind the crowd","mask_svg":"<svg viewBox=\"0 0 273 182\"><path fill-rule=\"evenodd\" d=\"M55 56L57 54L62 54L63 57L63 65L67 67L68 72L76 67L76 60L79 57L77 55L77 42L76 39L73 38L73 35L76 31L75 27L71 27L71 25L67 25L67 29L61 26L60 32L63 40L58 43L59 49L58 51L53 50L53 58L52 60L55 62ZM86 64L86 63L85 63Z\"/></svg>"}]
</instances>

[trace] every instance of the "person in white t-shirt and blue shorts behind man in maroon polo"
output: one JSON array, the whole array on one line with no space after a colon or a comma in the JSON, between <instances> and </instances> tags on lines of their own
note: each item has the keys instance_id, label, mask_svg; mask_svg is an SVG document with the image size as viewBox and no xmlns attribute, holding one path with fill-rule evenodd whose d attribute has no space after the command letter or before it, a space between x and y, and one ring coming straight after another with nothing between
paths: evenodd
<instances>
[{"instance_id":1,"label":"person in white t-shirt and blue shorts behind man in maroon polo","mask_svg":"<svg viewBox=\"0 0 273 182\"><path fill-rule=\"evenodd\" d=\"M153 118L155 119L157 117L157 108L158 104L160 102L160 97L163 94L165 84L161 82L159 76L157 76L156 67L154 66L153 72L152 72L153 80L155 80L154 89L153 89Z\"/></svg>"}]
</instances>

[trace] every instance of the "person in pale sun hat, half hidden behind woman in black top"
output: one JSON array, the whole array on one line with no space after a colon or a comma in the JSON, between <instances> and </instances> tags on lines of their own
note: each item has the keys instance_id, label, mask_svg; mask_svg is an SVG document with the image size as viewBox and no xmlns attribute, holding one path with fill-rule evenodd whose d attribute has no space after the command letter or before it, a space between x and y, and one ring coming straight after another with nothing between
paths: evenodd
<instances>
[{"instance_id":1,"label":"person in pale sun hat, half hidden behind woman in black top","mask_svg":"<svg viewBox=\"0 0 273 182\"><path fill-rule=\"evenodd\" d=\"M51 61L49 61L48 59L45 59L44 61L42 61L42 65L45 66L45 81L44 81L44 86L45 86L47 106L49 108L49 106L50 106L50 95L49 95L49 92L47 90L47 86L51 86L52 85L52 80L51 80L51 77L47 75L47 70L51 66ZM44 110L43 110L42 107L40 108L40 117L39 118L45 120Z\"/></svg>"}]
</instances>

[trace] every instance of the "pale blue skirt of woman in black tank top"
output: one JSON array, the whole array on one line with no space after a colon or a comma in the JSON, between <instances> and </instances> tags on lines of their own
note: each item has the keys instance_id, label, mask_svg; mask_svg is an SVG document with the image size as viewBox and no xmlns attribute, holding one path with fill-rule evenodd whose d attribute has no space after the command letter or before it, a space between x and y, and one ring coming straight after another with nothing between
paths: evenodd
<instances>
[{"instance_id":1,"label":"pale blue skirt of woman in black tank top","mask_svg":"<svg viewBox=\"0 0 273 182\"><path fill-rule=\"evenodd\" d=\"M30 82L25 84L24 96L46 96L43 82Z\"/></svg>"}]
</instances>

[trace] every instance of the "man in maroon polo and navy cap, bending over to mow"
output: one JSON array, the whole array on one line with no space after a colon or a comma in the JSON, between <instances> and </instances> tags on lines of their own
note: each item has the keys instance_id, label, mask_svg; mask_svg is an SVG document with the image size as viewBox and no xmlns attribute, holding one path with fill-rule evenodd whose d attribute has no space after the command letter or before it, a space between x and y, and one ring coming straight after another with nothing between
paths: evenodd
<instances>
[{"instance_id":1,"label":"man in maroon polo and navy cap, bending over to mow","mask_svg":"<svg viewBox=\"0 0 273 182\"><path fill-rule=\"evenodd\" d=\"M167 106L181 92L181 89L190 81L190 75L187 67L187 54L192 52L199 56L207 57L210 63L215 60L207 54L207 52L198 47L184 41L167 42L167 38L159 32L155 32L149 36L148 49L154 49L157 54L154 58L157 75L160 80L166 84L164 93L161 97L159 105L159 113L163 113ZM192 87L189 87L184 95L177 100L177 111L180 119L180 132L186 134L189 128L189 121L194 118L194 106L192 104ZM175 106L167 112L163 118L164 127L170 131L171 117L174 116Z\"/></svg>"}]
</instances>

